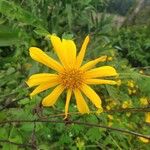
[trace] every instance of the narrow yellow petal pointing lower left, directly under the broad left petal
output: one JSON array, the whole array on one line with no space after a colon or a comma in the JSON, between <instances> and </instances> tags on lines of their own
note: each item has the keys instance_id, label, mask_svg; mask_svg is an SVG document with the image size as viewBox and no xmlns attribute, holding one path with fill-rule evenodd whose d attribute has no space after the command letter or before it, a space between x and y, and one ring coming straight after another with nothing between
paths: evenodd
<instances>
[{"instance_id":1,"label":"narrow yellow petal pointing lower left, directly under the broad left petal","mask_svg":"<svg viewBox=\"0 0 150 150\"><path fill-rule=\"evenodd\" d=\"M30 94L30 96L32 97L32 96L34 96L34 95L36 95L36 94L38 94L38 93L41 93L41 92L43 92L43 91L45 91L45 90L47 90L47 89L49 89L49 88L51 88L51 87L54 87L54 86L56 86L57 84L59 84L58 83L58 81L55 81L55 82L46 82L46 83L42 83L42 84L40 84L38 87L36 87L33 91L32 91L32 93Z\"/></svg>"}]
</instances>

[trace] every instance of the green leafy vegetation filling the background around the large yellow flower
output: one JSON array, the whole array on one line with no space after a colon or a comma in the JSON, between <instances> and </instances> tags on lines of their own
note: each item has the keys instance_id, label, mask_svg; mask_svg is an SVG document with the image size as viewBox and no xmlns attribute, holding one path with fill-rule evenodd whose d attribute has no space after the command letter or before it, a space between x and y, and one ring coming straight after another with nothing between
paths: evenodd
<instances>
[{"instance_id":1,"label":"green leafy vegetation filling the background around the large yellow flower","mask_svg":"<svg viewBox=\"0 0 150 150\"><path fill-rule=\"evenodd\" d=\"M0 1L0 149L149 149L150 139L140 136L150 136L150 3L141 2ZM47 68L31 60L28 49L37 46L55 57L49 33L74 39L78 49L90 34L86 60L112 57L104 64L118 70L118 85L94 87L103 113L72 113L64 121L65 95L54 108L39 105L47 92L29 98L25 81ZM70 111L77 112L74 103Z\"/></svg>"}]
</instances>

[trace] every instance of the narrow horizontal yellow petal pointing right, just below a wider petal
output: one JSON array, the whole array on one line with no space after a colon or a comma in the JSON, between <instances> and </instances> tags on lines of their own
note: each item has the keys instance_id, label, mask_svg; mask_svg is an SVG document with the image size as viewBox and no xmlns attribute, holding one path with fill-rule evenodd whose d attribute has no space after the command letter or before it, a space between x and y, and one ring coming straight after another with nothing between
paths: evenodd
<instances>
[{"instance_id":1,"label":"narrow horizontal yellow petal pointing right, just below a wider petal","mask_svg":"<svg viewBox=\"0 0 150 150\"><path fill-rule=\"evenodd\" d=\"M103 80L103 79L86 79L85 83L86 84L112 84L112 85L117 84L116 81L113 81L113 80Z\"/></svg>"}]
</instances>

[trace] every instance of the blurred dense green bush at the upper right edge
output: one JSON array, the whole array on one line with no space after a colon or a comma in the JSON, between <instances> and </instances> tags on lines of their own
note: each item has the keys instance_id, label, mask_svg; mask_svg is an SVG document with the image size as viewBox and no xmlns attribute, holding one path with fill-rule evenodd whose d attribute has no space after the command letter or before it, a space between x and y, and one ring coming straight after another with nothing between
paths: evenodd
<instances>
[{"instance_id":1,"label":"blurred dense green bush at the upper right edge","mask_svg":"<svg viewBox=\"0 0 150 150\"><path fill-rule=\"evenodd\" d=\"M132 26L121 29L113 46L135 67L150 66L150 30L149 26Z\"/></svg>"}]
</instances>

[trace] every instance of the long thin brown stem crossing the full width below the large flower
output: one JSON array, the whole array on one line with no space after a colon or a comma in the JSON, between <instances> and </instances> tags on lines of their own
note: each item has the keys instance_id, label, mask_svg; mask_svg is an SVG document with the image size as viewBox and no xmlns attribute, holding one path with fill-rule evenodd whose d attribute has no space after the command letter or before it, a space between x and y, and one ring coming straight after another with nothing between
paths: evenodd
<instances>
[{"instance_id":1,"label":"long thin brown stem crossing the full width below the large flower","mask_svg":"<svg viewBox=\"0 0 150 150\"><path fill-rule=\"evenodd\" d=\"M114 130L114 131L118 131L118 132L122 132L122 133L127 133L127 134L131 134L131 135L135 135L135 136L139 136L139 137L143 137L146 139L150 140L150 135L144 135L138 132L134 132L134 131L130 131L130 130L126 130L126 129L120 129L120 128L114 128L114 127L109 127L109 126L105 126L105 125L99 125L99 124L94 124L94 123L86 123L86 122L80 122L80 121L58 121L58 120L7 120L7 121L1 121L0 124L6 124L6 123L22 123L22 122L26 122L26 123L30 123L30 122L50 122L50 123L65 123L67 124L78 124L78 125L85 125L85 126L89 126L89 127L100 127L100 128L104 128L104 129L108 129L108 130Z\"/></svg>"}]
</instances>

